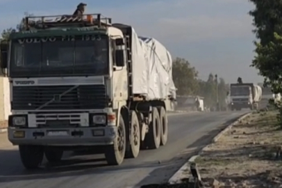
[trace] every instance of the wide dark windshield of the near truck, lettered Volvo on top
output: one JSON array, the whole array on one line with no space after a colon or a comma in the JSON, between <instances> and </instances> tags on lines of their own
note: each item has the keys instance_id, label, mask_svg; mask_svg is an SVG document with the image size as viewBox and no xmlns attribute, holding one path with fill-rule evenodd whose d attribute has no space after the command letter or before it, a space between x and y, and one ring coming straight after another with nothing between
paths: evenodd
<instances>
[{"instance_id":1,"label":"wide dark windshield of the near truck, lettered Volvo on top","mask_svg":"<svg viewBox=\"0 0 282 188\"><path fill-rule=\"evenodd\" d=\"M25 38L14 40L11 77L108 74L106 36Z\"/></svg>"}]
</instances>

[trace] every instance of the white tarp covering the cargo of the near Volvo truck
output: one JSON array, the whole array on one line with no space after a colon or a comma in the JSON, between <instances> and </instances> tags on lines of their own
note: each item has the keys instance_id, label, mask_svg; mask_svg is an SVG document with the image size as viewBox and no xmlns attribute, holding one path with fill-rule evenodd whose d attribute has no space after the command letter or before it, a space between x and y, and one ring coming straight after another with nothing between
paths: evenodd
<instances>
[{"instance_id":1,"label":"white tarp covering the cargo of the near Volvo truck","mask_svg":"<svg viewBox=\"0 0 282 188\"><path fill-rule=\"evenodd\" d=\"M133 93L149 100L176 97L172 56L154 38L138 37L132 29Z\"/></svg>"}]
</instances>

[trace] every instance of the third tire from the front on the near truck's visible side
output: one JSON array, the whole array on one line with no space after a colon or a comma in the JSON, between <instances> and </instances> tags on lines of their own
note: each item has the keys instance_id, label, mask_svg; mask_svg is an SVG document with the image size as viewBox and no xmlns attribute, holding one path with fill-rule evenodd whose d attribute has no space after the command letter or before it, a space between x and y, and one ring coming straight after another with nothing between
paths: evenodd
<instances>
[{"instance_id":1,"label":"third tire from the front on the near truck's visible side","mask_svg":"<svg viewBox=\"0 0 282 188\"><path fill-rule=\"evenodd\" d=\"M156 107L152 109L152 120L149 125L149 132L146 135L145 143L149 149L158 149L160 147L160 115Z\"/></svg>"}]
</instances>

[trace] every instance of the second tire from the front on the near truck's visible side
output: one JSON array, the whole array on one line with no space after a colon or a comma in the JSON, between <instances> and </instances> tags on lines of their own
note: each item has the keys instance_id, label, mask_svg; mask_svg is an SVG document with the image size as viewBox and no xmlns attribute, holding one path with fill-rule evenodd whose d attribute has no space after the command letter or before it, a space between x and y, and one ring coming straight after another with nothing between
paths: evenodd
<instances>
[{"instance_id":1,"label":"second tire from the front on the near truck's visible side","mask_svg":"<svg viewBox=\"0 0 282 188\"><path fill-rule=\"evenodd\" d=\"M129 137L129 150L126 158L136 158L140 152L140 126L138 116L135 111L131 111L131 125Z\"/></svg>"}]
</instances>

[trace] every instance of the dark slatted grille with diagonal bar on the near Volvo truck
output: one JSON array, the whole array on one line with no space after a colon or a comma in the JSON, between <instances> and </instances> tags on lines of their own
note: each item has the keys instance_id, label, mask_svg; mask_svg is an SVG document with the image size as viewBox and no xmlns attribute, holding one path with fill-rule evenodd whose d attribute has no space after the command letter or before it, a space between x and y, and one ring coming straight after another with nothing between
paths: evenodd
<instances>
[{"instance_id":1,"label":"dark slatted grille with diagonal bar on the near Volvo truck","mask_svg":"<svg viewBox=\"0 0 282 188\"><path fill-rule=\"evenodd\" d=\"M104 85L76 88L74 86L14 86L11 107L14 110L103 109L107 101Z\"/></svg>"}]
</instances>

